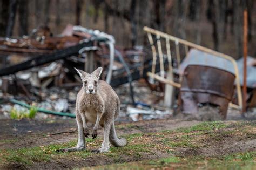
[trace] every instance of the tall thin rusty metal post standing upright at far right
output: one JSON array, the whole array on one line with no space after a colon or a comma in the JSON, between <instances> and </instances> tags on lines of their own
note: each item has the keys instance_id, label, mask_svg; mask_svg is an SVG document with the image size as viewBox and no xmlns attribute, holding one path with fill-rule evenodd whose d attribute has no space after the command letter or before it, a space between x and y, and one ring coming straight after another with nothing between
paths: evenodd
<instances>
[{"instance_id":1,"label":"tall thin rusty metal post standing upright at far right","mask_svg":"<svg viewBox=\"0 0 256 170\"><path fill-rule=\"evenodd\" d=\"M247 86L246 86L246 77L247 77L247 31L248 31L248 13L247 9L244 10L244 83L242 86L242 112L246 112L246 96L247 96Z\"/></svg>"}]
</instances>

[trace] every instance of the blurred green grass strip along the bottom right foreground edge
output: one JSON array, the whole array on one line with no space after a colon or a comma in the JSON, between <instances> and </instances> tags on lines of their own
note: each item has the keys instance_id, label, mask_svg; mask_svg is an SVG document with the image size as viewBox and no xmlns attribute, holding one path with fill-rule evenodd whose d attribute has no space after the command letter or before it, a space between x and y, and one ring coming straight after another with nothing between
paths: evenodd
<instances>
[{"instance_id":1,"label":"blurred green grass strip along the bottom right foreground edge","mask_svg":"<svg viewBox=\"0 0 256 170\"><path fill-rule=\"evenodd\" d=\"M246 152L211 158L171 156L156 160L86 167L83 169L255 169L256 162L253 161L255 154L256 152ZM243 156L241 157L241 155Z\"/></svg>"}]
</instances>

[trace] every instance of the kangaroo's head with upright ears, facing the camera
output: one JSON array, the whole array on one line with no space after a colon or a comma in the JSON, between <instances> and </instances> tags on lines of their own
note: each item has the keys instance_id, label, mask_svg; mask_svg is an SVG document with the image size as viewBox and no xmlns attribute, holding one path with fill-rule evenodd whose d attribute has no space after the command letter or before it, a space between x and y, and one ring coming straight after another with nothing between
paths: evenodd
<instances>
[{"instance_id":1,"label":"kangaroo's head with upright ears, facing the camera","mask_svg":"<svg viewBox=\"0 0 256 170\"><path fill-rule=\"evenodd\" d=\"M98 67L98 69L96 69L91 74L89 74L89 73L86 73L85 71L76 69L76 71L78 72L79 76L82 79L83 89L86 92L86 94L97 93L98 81L99 81L100 74L102 74L102 70L103 70L102 67Z\"/></svg>"}]
</instances>

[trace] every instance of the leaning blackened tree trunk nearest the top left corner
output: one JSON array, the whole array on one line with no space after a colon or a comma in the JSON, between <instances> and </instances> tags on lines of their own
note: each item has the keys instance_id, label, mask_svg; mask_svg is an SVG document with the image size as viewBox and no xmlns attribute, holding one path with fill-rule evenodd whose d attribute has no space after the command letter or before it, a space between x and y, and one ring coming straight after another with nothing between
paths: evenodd
<instances>
[{"instance_id":1,"label":"leaning blackened tree trunk nearest the top left corner","mask_svg":"<svg viewBox=\"0 0 256 170\"><path fill-rule=\"evenodd\" d=\"M16 9L17 9L17 1L11 0L9 3L9 17L8 17L8 25L6 28L6 37L12 36L12 30L14 29L14 23L16 18Z\"/></svg>"}]
</instances>

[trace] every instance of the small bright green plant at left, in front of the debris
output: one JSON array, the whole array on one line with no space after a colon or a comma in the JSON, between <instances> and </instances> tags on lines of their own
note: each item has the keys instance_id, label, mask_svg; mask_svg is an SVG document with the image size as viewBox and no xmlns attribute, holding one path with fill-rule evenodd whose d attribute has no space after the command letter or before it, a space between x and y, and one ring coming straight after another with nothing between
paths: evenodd
<instances>
[{"instance_id":1,"label":"small bright green plant at left, in front of the debris","mask_svg":"<svg viewBox=\"0 0 256 170\"><path fill-rule=\"evenodd\" d=\"M11 119L23 119L23 118L29 118L33 119L35 118L37 113L37 108L36 107L30 107L28 111L18 111L15 108L12 108L10 111L10 117Z\"/></svg>"}]
</instances>

